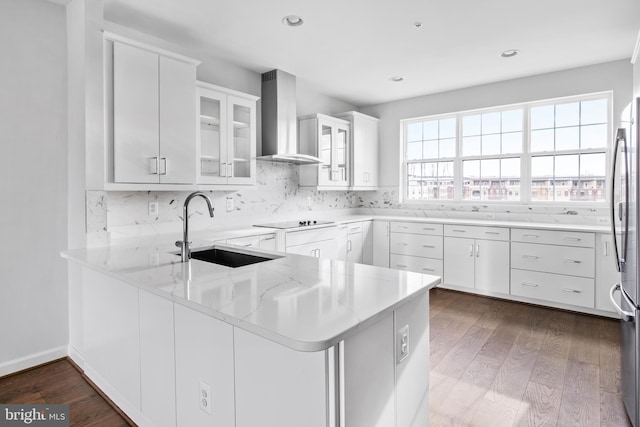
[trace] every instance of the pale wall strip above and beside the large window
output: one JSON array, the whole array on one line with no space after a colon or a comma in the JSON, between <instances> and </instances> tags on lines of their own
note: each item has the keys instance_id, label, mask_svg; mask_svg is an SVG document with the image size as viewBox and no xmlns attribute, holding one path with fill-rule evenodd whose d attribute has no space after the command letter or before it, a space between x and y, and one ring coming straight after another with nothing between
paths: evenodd
<instances>
[{"instance_id":1,"label":"pale wall strip above and beside the large window","mask_svg":"<svg viewBox=\"0 0 640 427\"><path fill-rule=\"evenodd\" d=\"M620 60L373 105L360 111L380 118L380 185L397 187L402 119L606 90L613 90L613 117L619 119L631 100L631 87L632 67L629 60Z\"/></svg>"}]
</instances>

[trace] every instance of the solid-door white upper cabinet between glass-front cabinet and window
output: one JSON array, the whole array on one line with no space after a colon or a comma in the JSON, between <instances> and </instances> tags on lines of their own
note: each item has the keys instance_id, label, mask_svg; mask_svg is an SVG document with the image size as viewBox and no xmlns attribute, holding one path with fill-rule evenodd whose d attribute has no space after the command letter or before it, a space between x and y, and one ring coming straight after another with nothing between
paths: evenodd
<instances>
[{"instance_id":1,"label":"solid-door white upper cabinet between glass-front cabinet and window","mask_svg":"<svg viewBox=\"0 0 640 427\"><path fill-rule=\"evenodd\" d=\"M351 189L377 189L380 120L357 111L337 114L336 117L348 120L351 124Z\"/></svg>"}]
</instances>

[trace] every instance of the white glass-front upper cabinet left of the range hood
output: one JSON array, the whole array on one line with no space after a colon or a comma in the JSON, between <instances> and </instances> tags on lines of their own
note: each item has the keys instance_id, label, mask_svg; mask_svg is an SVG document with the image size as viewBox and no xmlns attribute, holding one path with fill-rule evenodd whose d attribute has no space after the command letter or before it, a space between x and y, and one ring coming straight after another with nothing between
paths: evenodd
<instances>
[{"instance_id":1,"label":"white glass-front upper cabinet left of the range hood","mask_svg":"<svg viewBox=\"0 0 640 427\"><path fill-rule=\"evenodd\" d=\"M255 184L257 100L198 82L198 184Z\"/></svg>"}]
</instances>

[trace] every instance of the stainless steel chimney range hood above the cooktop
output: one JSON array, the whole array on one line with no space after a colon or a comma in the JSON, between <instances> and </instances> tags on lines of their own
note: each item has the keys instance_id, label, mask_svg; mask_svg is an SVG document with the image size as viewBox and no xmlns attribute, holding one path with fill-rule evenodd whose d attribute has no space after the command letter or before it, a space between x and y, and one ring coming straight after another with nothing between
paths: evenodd
<instances>
[{"instance_id":1,"label":"stainless steel chimney range hood above the cooktop","mask_svg":"<svg viewBox=\"0 0 640 427\"><path fill-rule=\"evenodd\" d=\"M319 158L298 153L296 76L282 70L262 75L262 156L257 160L310 165Z\"/></svg>"}]
</instances>

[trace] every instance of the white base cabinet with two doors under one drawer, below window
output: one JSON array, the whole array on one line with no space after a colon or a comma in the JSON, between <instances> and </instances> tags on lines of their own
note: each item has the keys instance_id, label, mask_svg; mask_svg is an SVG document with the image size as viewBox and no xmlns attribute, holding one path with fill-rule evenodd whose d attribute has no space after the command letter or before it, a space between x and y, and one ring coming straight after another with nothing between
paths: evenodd
<instances>
[{"instance_id":1,"label":"white base cabinet with two doors under one drawer, below window","mask_svg":"<svg viewBox=\"0 0 640 427\"><path fill-rule=\"evenodd\" d=\"M509 294L508 229L445 226L444 233L445 286ZM493 239L453 237L462 234Z\"/></svg>"}]
</instances>

